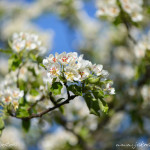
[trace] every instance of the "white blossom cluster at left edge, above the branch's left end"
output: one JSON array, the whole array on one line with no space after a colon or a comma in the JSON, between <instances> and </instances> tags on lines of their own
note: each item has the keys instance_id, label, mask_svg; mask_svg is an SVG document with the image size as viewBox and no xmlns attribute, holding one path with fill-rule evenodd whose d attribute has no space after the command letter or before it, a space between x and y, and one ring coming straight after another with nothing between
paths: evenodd
<instances>
[{"instance_id":1,"label":"white blossom cluster at left edge, above the branch's left end","mask_svg":"<svg viewBox=\"0 0 150 150\"><path fill-rule=\"evenodd\" d=\"M24 96L24 92L20 91L18 88L1 89L0 92L0 102L6 106L12 105L14 109L18 109L19 100Z\"/></svg>"}]
</instances>

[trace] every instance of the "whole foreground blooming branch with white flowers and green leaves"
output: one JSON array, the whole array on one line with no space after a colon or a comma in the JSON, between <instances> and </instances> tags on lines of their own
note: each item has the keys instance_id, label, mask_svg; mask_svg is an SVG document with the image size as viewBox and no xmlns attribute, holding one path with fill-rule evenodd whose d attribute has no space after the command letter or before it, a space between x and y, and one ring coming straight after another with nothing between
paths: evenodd
<instances>
[{"instance_id":1,"label":"whole foreground blooming branch with white flowers and green leaves","mask_svg":"<svg viewBox=\"0 0 150 150\"><path fill-rule=\"evenodd\" d=\"M64 111L63 105L77 96L84 97L91 114L107 113L105 97L115 94L115 89L103 65L92 64L76 52L50 54L43 59L46 48L35 34L14 33L9 45L10 50L1 50L10 54L9 78L1 83L1 130L4 116L22 119L27 128L30 119L57 108ZM56 99L63 87L67 99ZM53 106L49 103L47 108L37 108L44 101Z\"/></svg>"}]
</instances>

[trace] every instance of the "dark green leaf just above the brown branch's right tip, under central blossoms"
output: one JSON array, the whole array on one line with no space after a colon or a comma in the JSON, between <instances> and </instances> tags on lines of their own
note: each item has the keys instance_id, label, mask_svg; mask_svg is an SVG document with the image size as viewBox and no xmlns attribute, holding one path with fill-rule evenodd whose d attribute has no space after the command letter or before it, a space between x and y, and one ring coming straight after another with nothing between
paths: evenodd
<instances>
[{"instance_id":1,"label":"dark green leaf just above the brown branch's right tip, under central blossoms","mask_svg":"<svg viewBox=\"0 0 150 150\"><path fill-rule=\"evenodd\" d=\"M71 91L75 95L82 96L82 88L76 84L70 85L67 90Z\"/></svg>"}]
</instances>

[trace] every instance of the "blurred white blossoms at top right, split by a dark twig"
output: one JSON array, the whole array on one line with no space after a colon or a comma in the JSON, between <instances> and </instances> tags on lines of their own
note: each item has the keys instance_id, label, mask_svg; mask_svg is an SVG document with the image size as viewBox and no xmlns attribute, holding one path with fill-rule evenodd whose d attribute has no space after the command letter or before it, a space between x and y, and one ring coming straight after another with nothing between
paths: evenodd
<instances>
[{"instance_id":1,"label":"blurred white blossoms at top right, split by a dark twig","mask_svg":"<svg viewBox=\"0 0 150 150\"><path fill-rule=\"evenodd\" d=\"M123 11L131 17L132 21L139 22L143 19L143 0L119 0L119 2ZM117 0L98 0L97 16L117 17L120 12L120 7L117 3Z\"/></svg>"}]
</instances>

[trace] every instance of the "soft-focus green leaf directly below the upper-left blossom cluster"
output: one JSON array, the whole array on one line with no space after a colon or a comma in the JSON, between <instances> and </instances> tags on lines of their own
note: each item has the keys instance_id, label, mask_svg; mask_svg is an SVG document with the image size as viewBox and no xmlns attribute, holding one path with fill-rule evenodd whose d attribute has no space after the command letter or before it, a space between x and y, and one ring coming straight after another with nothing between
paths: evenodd
<instances>
[{"instance_id":1,"label":"soft-focus green leaf directly below the upper-left blossom cluster","mask_svg":"<svg viewBox=\"0 0 150 150\"><path fill-rule=\"evenodd\" d=\"M19 67L21 62L21 59L19 59L17 55L12 55L8 60L9 70L15 71Z\"/></svg>"}]
</instances>

